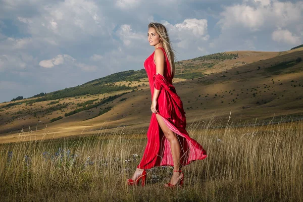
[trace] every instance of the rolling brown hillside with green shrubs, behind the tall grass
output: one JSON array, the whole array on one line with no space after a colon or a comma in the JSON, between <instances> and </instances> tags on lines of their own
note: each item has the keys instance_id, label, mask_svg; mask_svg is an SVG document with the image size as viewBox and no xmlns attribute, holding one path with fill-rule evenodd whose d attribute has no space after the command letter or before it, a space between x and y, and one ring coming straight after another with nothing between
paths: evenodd
<instances>
[{"instance_id":1,"label":"rolling brown hillside with green shrubs, behind the tall grass","mask_svg":"<svg viewBox=\"0 0 303 202\"><path fill-rule=\"evenodd\" d=\"M179 61L173 80L187 123L303 117L303 47L285 52L233 51ZM150 90L144 69L124 71L39 97L0 104L0 142L23 131L50 137L100 128L146 129ZM20 104L21 103L21 104ZM29 129L30 127L30 129ZM43 130L44 129L44 130Z\"/></svg>"}]
</instances>

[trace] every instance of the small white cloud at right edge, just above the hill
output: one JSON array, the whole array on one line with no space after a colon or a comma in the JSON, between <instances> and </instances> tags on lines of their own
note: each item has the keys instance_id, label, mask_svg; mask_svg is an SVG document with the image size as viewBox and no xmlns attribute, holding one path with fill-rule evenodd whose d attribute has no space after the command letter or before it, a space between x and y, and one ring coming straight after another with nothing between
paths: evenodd
<instances>
[{"instance_id":1,"label":"small white cloud at right edge, just above the hill","mask_svg":"<svg viewBox=\"0 0 303 202\"><path fill-rule=\"evenodd\" d=\"M287 29L278 29L272 33L272 39L277 42L284 42L292 45L300 44L301 39L299 36L293 35Z\"/></svg>"}]
</instances>

